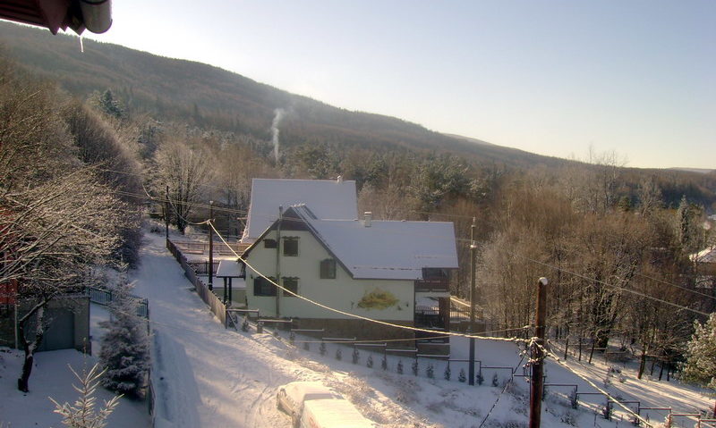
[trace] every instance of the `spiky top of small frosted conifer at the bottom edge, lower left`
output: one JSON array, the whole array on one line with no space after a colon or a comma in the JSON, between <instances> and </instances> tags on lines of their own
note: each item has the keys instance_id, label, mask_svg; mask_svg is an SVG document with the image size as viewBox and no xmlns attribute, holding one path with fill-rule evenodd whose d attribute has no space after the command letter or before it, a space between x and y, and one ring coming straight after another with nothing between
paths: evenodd
<instances>
[{"instance_id":1,"label":"spiky top of small frosted conifer at the bottom edge, lower left","mask_svg":"<svg viewBox=\"0 0 716 428\"><path fill-rule=\"evenodd\" d=\"M72 385L80 397L74 402L60 404L55 399L50 398L55 404L55 413L63 416L62 424L70 428L103 428L107 426L107 417L112 414L115 407L119 404L119 397L105 401L105 406L99 410L95 410L97 399L94 397L97 390L99 379L105 372L98 371L98 365L94 365L89 372L77 374L72 367L72 373L80 381L80 386Z\"/></svg>"}]
</instances>

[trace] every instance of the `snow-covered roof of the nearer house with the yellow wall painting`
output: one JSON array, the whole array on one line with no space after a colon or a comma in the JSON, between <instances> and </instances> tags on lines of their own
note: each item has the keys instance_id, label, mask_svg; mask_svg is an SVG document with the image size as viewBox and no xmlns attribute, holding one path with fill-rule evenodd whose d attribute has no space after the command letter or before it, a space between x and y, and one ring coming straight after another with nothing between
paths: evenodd
<instances>
[{"instance_id":1,"label":"snow-covered roof of the nearer house with the yellow wall painting","mask_svg":"<svg viewBox=\"0 0 716 428\"><path fill-rule=\"evenodd\" d=\"M355 279L421 280L422 268L456 269L452 222L322 220L292 206Z\"/></svg>"}]
</instances>

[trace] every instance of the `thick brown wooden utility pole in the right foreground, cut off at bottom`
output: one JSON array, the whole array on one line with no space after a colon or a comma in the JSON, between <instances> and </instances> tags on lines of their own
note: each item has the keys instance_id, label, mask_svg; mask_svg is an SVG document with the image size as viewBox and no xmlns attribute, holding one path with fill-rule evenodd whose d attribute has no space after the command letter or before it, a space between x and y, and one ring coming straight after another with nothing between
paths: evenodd
<instances>
[{"instance_id":1,"label":"thick brown wooden utility pole in the right foreground, cut off at bottom","mask_svg":"<svg viewBox=\"0 0 716 428\"><path fill-rule=\"evenodd\" d=\"M540 428L542 405L542 382L544 379L544 323L547 318L547 278L537 281L537 314L534 316L534 339L532 343L532 377L530 379L530 428Z\"/></svg>"}]
</instances>

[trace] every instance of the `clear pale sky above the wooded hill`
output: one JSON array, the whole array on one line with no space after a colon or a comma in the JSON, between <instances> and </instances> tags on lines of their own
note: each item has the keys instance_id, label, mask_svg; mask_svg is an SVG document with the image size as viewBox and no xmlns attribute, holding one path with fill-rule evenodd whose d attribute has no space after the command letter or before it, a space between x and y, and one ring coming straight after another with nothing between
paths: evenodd
<instances>
[{"instance_id":1,"label":"clear pale sky above the wooded hill","mask_svg":"<svg viewBox=\"0 0 716 428\"><path fill-rule=\"evenodd\" d=\"M714 0L113 7L112 28L85 37L542 155L716 169Z\"/></svg>"}]
</instances>

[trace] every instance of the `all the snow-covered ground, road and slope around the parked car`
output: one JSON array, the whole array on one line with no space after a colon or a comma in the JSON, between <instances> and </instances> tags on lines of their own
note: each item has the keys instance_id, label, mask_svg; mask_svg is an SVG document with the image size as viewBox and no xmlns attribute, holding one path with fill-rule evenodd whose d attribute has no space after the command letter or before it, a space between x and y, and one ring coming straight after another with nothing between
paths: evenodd
<instances>
[{"instance_id":1,"label":"all the snow-covered ground, road and slope around the parked car","mask_svg":"<svg viewBox=\"0 0 716 428\"><path fill-rule=\"evenodd\" d=\"M278 386L297 380L321 381L334 387L363 415L385 427L494 428L527 424L528 384L518 376L508 383L511 372L507 368L485 368L483 384L469 386L456 382L460 369L467 371L465 363L450 364L452 380L448 382L444 379L446 363L443 361L421 359L419 373L415 376L413 358L410 357L389 356L388 370L384 371L380 364L382 354L371 353L366 348L360 350L358 364L354 365L352 348L345 345L328 344L325 355L320 355L319 343L310 338L296 337L294 347L288 343L286 332L276 338L271 331L259 334L253 328L248 332L226 330L184 278L179 264L165 249L163 234L147 233L141 257L141 268L132 274L132 280L135 281L135 294L149 298L154 358L152 379L157 399L156 426L159 428L289 427L290 419L277 410L275 397ZM93 324L106 316L100 311L93 312ZM311 342L309 350L303 348L302 340ZM468 343L465 338L453 338L451 357L465 359ZM336 358L337 348L342 349L340 361ZM510 342L476 340L476 357L485 367L516 367L516 373L521 374L520 350ZM367 366L369 355L373 360L371 368ZM52 406L45 397L74 398L72 382L59 379L62 370L57 365L64 366L65 362L60 363L60 360L67 359L72 360L73 365L81 366L81 354L74 351L38 354L38 367L30 381L38 390L27 397L13 389L19 365L13 362L13 357L0 356L3 356L0 426L2 422L10 422L12 427L35 426L30 424L30 419L19 419L21 412L14 411L21 408L19 403L24 405L22 407L33 408L27 413L45 415L32 420L38 422L38 426L48 426L50 422L58 426L53 421L59 418L47 419ZM403 374L396 373L398 361L402 362ZM434 379L427 376L429 364L433 366ZM593 365L579 365L571 358L568 364L600 388L605 388L603 380L607 365L599 361ZM639 381L635 379L632 366L619 365L619 368L624 382L614 377L606 387L615 397L640 400L641 407L672 407L685 413L712 407L711 399L701 390L674 381ZM65 372L72 376L69 370ZM549 383L577 384L580 392L596 391L555 363L548 363L546 373ZM497 386L492 386L493 378ZM70 391L62 393L64 395L55 390L40 392L41 383ZM629 425L626 415L618 408L612 421L601 418L603 397L586 395L580 397L583 406L576 410L570 408L567 399L570 390L570 387L548 388L542 406L541 426ZM41 407L43 399L47 405ZM143 419L124 424L125 412L138 404L126 406L123 400L115 417L115 421L122 421L121 424L113 422L109 426L149 426L146 412L140 412ZM130 417L126 416L126 420L131 420ZM663 413L654 411L650 419L662 422ZM693 425L681 418L673 426Z\"/></svg>"}]
</instances>

